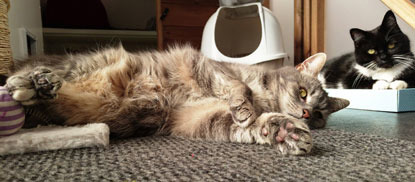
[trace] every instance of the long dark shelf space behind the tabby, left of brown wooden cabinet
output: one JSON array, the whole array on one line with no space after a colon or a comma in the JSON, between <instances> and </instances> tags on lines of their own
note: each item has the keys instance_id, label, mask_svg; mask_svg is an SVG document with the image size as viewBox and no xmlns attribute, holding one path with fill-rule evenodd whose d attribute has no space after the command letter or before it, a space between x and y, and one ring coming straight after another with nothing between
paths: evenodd
<instances>
[{"instance_id":1,"label":"long dark shelf space behind the tabby, left of brown wooden cabinet","mask_svg":"<svg viewBox=\"0 0 415 182\"><path fill-rule=\"evenodd\" d=\"M43 28L44 52L66 54L117 46L127 51L155 49L156 31Z\"/></svg>"}]
</instances>

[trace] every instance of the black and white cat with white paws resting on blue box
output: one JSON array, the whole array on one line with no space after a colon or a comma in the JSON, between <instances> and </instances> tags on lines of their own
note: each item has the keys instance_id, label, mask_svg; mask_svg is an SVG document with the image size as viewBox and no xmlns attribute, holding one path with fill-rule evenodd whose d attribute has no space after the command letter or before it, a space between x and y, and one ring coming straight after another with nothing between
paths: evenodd
<instances>
[{"instance_id":1,"label":"black and white cat with white paws resting on blue box","mask_svg":"<svg viewBox=\"0 0 415 182\"><path fill-rule=\"evenodd\" d=\"M415 58L408 37L388 11L370 31L350 30L355 51L331 59L319 75L325 88L404 89L415 87Z\"/></svg>"}]
</instances>

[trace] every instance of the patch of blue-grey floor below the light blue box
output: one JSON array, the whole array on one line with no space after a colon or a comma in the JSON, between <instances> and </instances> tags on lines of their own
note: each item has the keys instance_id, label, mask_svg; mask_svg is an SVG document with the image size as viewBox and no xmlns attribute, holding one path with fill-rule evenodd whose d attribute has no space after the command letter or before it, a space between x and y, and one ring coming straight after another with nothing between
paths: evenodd
<instances>
[{"instance_id":1,"label":"patch of blue-grey floor below the light blue box","mask_svg":"<svg viewBox=\"0 0 415 182\"><path fill-rule=\"evenodd\" d=\"M343 109L330 116L327 128L415 141L415 112Z\"/></svg>"}]
</instances>

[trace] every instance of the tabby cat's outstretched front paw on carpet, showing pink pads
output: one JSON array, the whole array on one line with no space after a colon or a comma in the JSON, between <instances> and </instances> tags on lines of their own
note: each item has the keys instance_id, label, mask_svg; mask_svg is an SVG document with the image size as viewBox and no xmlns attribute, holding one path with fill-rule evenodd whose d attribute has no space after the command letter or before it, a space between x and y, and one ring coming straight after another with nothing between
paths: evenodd
<instances>
[{"instance_id":1,"label":"tabby cat's outstretched front paw on carpet, showing pink pads","mask_svg":"<svg viewBox=\"0 0 415 182\"><path fill-rule=\"evenodd\" d=\"M264 113L258 119L260 139L258 143L268 143L282 154L303 155L310 153L311 132L303 121L279 113Z\"/></svg>"}]
</instances>

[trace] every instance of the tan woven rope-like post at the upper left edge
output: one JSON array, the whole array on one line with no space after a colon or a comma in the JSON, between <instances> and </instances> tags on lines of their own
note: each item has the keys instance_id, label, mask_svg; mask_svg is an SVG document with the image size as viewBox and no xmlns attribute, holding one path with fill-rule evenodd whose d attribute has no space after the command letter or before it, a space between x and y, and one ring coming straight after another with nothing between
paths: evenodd
<instances>
[{"instance_id":1,"label":"tan woven rope-like post at the upper left edge","mask_svg":"<svg viewBox=\"0 0 415 182\"><path fill-rule=\"evenodd\" d=\"M7 75L13 66L7 11L9 0L0 0L0 75Z\"/></svg>"}]
</instances>

